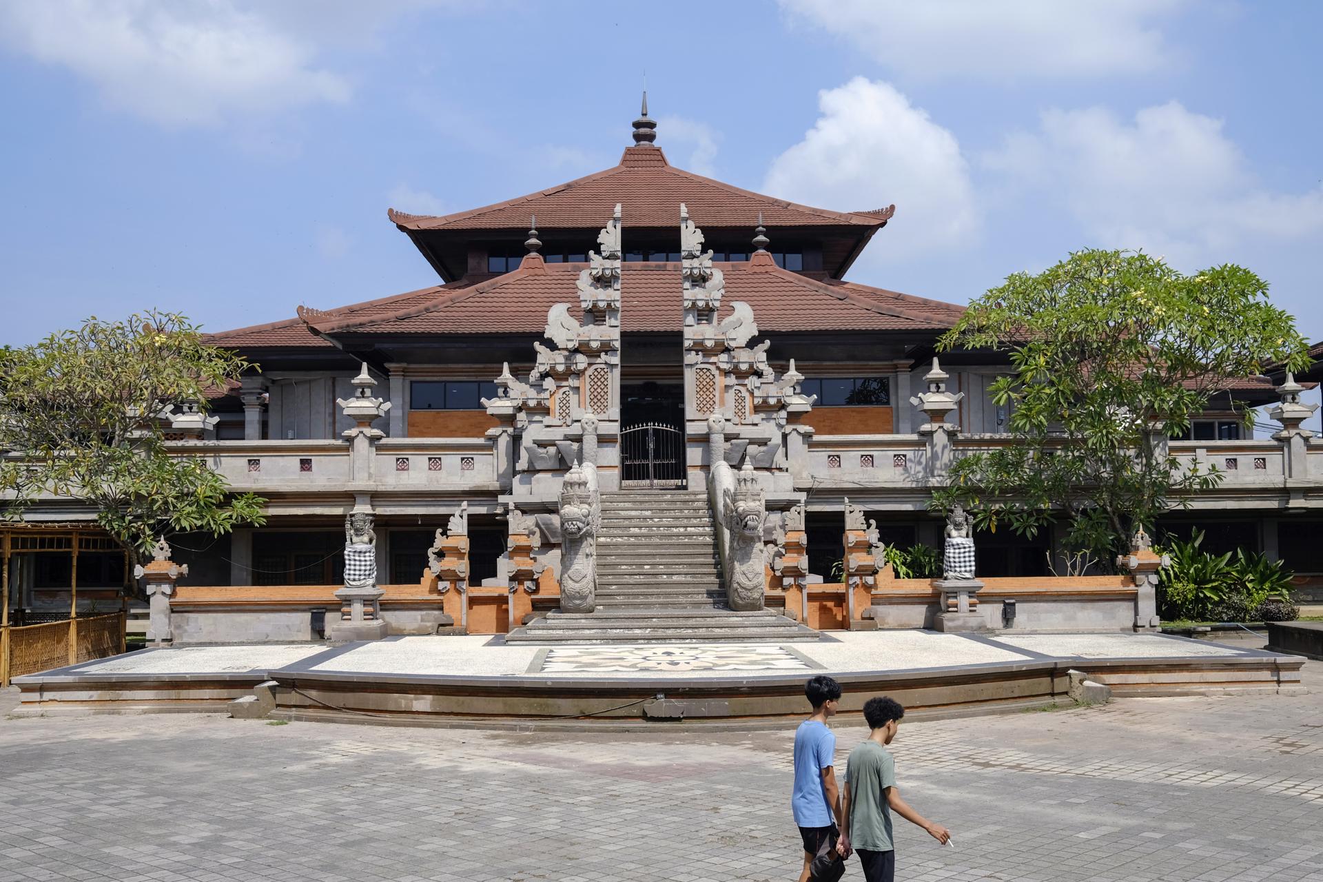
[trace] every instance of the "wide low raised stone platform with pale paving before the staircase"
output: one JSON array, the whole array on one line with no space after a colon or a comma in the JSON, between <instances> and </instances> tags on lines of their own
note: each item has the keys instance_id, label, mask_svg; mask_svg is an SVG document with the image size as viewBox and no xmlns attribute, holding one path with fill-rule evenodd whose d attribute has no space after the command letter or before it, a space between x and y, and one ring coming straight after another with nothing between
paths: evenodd
<instances>
[{"instance_id":1,"label":"wide low raised stone platform with pale paving before the staircase","mask_svg":"<svg viewBox=\"0 0 1323 882\"><path fill-rule=\"evenodd\" d=\"M279 719L431 726L785 725L816 673L845 688L841 713L890 694L917 715L1068 701L1069 670L1118 697L1299 693L1304 661L1167 635L844 632L818 643L509 645L406 636L316 644L184 647L20 677L20 713L224 711L277 684Z\"/></svg>"}]
</instances>

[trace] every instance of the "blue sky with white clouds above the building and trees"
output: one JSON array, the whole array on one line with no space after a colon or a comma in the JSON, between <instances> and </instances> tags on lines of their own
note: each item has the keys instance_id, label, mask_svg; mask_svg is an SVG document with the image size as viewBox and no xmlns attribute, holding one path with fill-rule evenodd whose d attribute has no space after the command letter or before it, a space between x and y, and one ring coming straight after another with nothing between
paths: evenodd
<instances>
[{"instance_id":1,"label":"blue sky with white clouds above the building and trees","mask_svg":"<svg viewBox=\"0 0 1323 882\"><path fill-rule=\"evenodd\" d=\"M431 284L388 206L614 164L644 74L673 164L894 202L855 280L963 303L1072 249L1144 249L1252 267L1316 340L1320 33L1323 4L1290 0L16 0L0 342Z\"/></svg>"}]
</instances>

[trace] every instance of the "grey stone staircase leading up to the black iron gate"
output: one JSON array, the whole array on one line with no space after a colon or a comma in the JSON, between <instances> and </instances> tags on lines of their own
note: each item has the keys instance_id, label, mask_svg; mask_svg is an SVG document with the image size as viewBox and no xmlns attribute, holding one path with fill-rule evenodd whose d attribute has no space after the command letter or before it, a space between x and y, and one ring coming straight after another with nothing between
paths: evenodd
<instances>
[{"instance_id":1,"label":"grey stone staircase leading up to the black iron gate","mask_svg":"<svg viewBox=\"0 0 1323 882\"><path fill-rule=\"evenodd\" d=\"M726 608L706 493L602 493L597 610L534 619L508 643L677 643L816 640L770 610Z\"/></svg>"}]
</instances>

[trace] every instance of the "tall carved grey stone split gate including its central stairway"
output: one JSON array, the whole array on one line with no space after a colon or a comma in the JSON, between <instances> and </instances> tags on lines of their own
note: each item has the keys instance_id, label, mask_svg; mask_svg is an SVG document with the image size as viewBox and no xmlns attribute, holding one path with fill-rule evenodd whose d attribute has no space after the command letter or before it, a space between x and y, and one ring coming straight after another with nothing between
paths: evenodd
<instances>
[{"instance_id":1,"label":"tall carved grey stone split gate including its central stairway","mask_svg":"<svg viewBox=\"0 0 1323 882\"><path fill-rule=\"evenodd\" d=\"M767 500L777 508L800 501L790 458L812 432L799 421L814 398L802 394L792 362L781 376L767 362L770 342L755 342L753 308L722 303L713 253L688 208L676 208L675 358L684 399L675 424L622 421L630 274L622 272L620 205L578 276L579 301L548 311L550 345L534 344L525 380L507 365L497 397L483 399L509 460L503 502L512 533L536 533L534 547L544 537L560 545L550 562L560 610L512 631L513 641L811 636L763 608L763 583ZM536 220L533 227L521 270L542 266ZM753 243L750 268L774 267L761 218ZM779 516L773 536L778 525Z\"/></svg>"}]
</instances>

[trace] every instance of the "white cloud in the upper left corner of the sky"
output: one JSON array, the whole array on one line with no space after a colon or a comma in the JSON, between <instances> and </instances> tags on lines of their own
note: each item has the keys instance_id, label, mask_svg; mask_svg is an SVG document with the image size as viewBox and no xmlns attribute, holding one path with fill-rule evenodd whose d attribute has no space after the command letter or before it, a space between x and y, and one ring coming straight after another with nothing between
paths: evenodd
<instances>
[{"instance_id":1,"label":"white cloud in the upper left corner of the sky","mask_svg":"<svg viewBox=\"0 0 1323 882\"><path fill-rule=\"evenodd\" d=\"M279 4L275 4L279 5ZM105 100L165 126L345 102L300 30L235 0L40 0L0 4L0 41L93 82Z\"/></svg>"}]
</instances>

